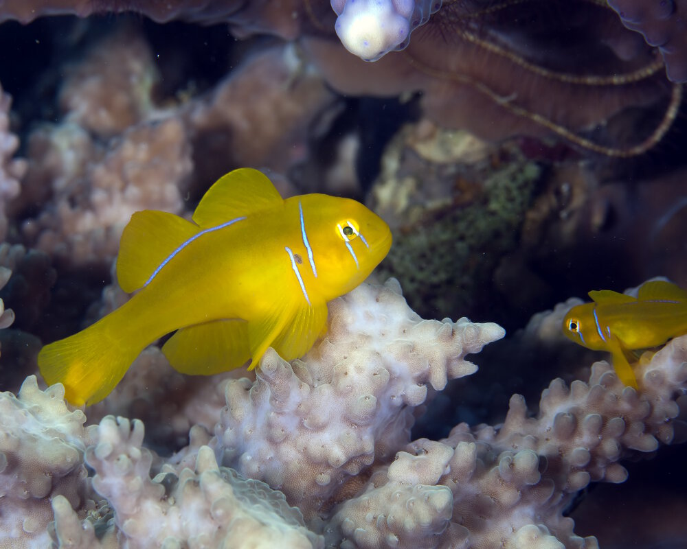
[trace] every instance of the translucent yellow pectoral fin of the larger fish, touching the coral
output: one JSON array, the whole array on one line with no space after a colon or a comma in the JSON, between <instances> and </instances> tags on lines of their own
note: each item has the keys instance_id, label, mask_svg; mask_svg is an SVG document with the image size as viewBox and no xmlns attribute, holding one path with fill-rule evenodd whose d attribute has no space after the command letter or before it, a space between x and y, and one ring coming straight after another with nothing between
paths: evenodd
<instances>
[{"instance_id":1,"label":"translucent yellow pectoral fin of the larger fish, touching the coral","mask_svg":"<svg viewBox=\"0 0 687 549\"><path fill-rule=\"evenodd\" d=\"M251 320L248 325L252 357L249 369L257 366L267 347L272 347L284 360L303 356L324 333L326 322L326 303L298 303L284 307L279 314L269 318Z\"/></svg>"}]
</instances>

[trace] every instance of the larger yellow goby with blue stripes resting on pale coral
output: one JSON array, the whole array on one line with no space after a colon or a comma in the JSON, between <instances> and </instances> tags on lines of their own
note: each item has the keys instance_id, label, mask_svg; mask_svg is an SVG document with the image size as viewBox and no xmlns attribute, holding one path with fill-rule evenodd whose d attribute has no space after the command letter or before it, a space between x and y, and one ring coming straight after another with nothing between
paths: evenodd
<instances>
[{"instance_id":1,"label":"larger yellow goby with blue stripes resting on pale coral","mask_svg":"<svg viewBox=\"0 0 687 549\"><path fill-rule=\"evenodd\" d=\"M327 302L359 285L387 255L389 226L348 198L283 200L257 170L235 170L207 191L193 222L139 211L117 257L125 292L95 324L48 344L38 366L80 406L106 397L148 344L181 373L250 369L273 347L304 355L324 331Z\"/></svg>"}]
</instances>

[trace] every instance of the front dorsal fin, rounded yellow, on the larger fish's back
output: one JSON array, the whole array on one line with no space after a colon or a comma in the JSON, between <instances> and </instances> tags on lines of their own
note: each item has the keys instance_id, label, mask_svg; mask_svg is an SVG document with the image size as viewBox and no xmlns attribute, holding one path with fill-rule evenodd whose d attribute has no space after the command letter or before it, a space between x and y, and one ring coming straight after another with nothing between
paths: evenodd
<instances>
[{"instance_id":1,"label":"front dorsal fin, rounded yellow, on the larger fish's back","mask_svg":"<svg viewBox=\"0 0 687 549\"><path fill-rule=\"evenodd\" d=\"M283 204L272 182L258 170L243 167L222 176L201 198L193 220L206 228Z\"/></svg>"}]
</instances>

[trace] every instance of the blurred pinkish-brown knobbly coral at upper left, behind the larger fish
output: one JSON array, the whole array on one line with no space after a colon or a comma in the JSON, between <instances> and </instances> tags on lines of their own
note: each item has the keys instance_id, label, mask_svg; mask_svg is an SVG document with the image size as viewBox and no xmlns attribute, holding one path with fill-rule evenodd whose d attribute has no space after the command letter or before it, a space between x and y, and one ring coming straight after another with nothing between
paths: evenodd
<instances>
[{"instance_id":1,"label":"blurred pinkish-brown knobbly coral at upper left, behind the larger fish","mask_svg":"<svg viewBox=\"0 0 687 549\"><path fill-rule=\"evenodd\" d=\"M179 118L153 112L157 73L139 34L120 30L65 71L65 119L30 135L14 211L44 203L23 224L36 248L77 265L111 261L134 211L181 211L192 148Z\"/></svg>"}]
</instances>

